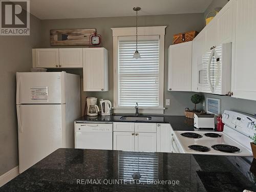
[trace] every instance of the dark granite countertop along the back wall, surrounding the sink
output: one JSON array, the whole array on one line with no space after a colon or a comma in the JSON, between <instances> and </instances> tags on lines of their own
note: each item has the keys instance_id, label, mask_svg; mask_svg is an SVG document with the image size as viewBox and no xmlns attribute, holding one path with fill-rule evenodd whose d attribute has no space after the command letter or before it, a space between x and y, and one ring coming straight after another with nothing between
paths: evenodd
<instances>
[{"instance_id":1,"label":"dark granite countertop along the back wall, surrounding the sink","mask_svg":"<svg viewBox=\"0 0 256 192\"><path fill-rule=\"evenodd\" d=\"M83 116L76 119L76 122L131 122L121 120L120 117L124 115L115 114L111 116ZM152 120L146 121L147 123L170 123L174 131L194 131L194 119L186 118L185 116L169 116L169 115L145 115L152 117ZM136 121L145 122L145 121Z\"/></svg>"}]
</instances>

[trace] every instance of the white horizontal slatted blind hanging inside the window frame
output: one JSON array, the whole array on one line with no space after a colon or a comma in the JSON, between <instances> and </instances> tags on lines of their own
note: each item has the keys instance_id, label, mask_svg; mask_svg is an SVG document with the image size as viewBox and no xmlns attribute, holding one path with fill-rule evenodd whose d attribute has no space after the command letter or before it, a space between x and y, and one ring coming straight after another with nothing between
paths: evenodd
<instances>
[{"instance_id":1,"label":"white horizontal slatted blind hanging inside the window frame","mask_svg":"<svg viewBox=\"0 0 256 192\"><path fill-rule=\"evenodd\" d=\"M159 106L159 36L139 38L140 59L134 59L135 37L119 38L119 106Z\"/></svg>"}]
</instances>

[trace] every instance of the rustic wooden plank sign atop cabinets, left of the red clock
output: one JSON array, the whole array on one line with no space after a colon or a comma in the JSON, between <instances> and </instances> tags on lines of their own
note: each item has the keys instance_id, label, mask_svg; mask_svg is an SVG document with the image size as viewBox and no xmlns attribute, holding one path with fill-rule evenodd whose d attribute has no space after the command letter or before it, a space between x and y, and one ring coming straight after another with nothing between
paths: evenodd
<instances>
[{"instance_id":1,"label":"rustic wooden plank sign atop cabinets, left of the red clock","mask_svg":"<svg viewBox=\"0 0 256 192\"><path fill-rule=\"evenodd\" d=\"M96 29L52 29L51 46L90 46L90 35Z\"/></svg>"}]
</instances>

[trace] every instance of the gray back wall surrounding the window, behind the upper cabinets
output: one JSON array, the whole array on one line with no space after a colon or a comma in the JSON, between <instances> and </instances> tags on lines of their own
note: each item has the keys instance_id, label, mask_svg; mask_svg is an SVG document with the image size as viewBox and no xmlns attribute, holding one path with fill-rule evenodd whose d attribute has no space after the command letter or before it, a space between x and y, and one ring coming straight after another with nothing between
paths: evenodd
<instances>
[{"instance_id":1,"label":"gray back wall surrounding the window, behind the upper cabinets","mask_svg":"<svg viewBox=\"0 0 256 192\"><path fill-rule=\"evenodd\" d=\"M203 13L197 14L172 14L139 16L139 26L167 26L165 35L165 69L164 69L164 97L170 99L171 103L165 110L167 115L183 115L188 106L193 108L190 102L191 92L168 92L167 91L167 58L168 47L172 44L173 35L176 33L197 30L201 31L204 25ZM50 46L50 29L83 29L96 28L102 35L102 46L109 50L109 90L108 92L82 92L81 103L84 108L86 96L109 99L113 102L113 37L112 27L134 27L135 17L104 17L104 18L79 18L79 19L54 19L42 20L42 48ZM66 70L69 72L70 70ZM72 70L82 75L82 70Z\"/></svg>"}]
</instances>

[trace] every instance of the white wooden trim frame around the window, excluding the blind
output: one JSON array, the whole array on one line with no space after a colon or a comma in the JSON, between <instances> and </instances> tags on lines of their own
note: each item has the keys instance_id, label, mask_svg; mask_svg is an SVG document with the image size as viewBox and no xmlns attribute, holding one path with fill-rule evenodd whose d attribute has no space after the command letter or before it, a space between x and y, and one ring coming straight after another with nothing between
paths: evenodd
<instances>
[{"instance_id":1,"label":"white wooden trim frame around the window, excluding the blind","mask_svg":"<svg viewBox=\"0 0 256 192\"><path fill-rule=\"evenodd\" d=\"M159 35L159 106L139 107L139 112L144 114L164 113L164 36L166 26L138 27L139 36ZM113 74L114 74L114 113L135 113L133 107L118 106L119 100L119 70L118 70L118 37L135 36L136 28L111 28L113 31ZM135 104L135 103L134 103ZM135 105L134 105L135 106Z\"/></svg>"}]
</instances>

